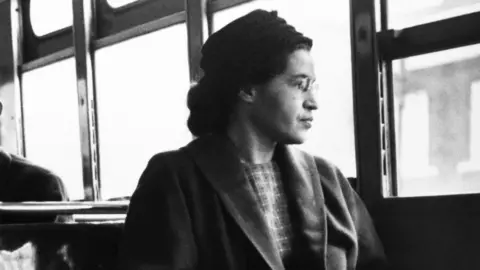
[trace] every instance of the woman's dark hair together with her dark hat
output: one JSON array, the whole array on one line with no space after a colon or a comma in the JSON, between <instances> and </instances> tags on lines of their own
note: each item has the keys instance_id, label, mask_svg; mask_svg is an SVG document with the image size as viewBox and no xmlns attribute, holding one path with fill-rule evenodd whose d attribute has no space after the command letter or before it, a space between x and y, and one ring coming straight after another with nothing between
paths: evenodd
<instances>
[{"instance_id":1,"label":"woman's dark hair together with her dark hat","mask_svg":"<svg viewBox=\"0 0 480 270\"><path fill-rule=\"evenodd\" d=\"M255 10L210 36L202 48L203 78L190 88L188 128L195 136L224 132L240 89L281 74L287 57L312 40L277 12Z\"/></svg>"}]
</instances>

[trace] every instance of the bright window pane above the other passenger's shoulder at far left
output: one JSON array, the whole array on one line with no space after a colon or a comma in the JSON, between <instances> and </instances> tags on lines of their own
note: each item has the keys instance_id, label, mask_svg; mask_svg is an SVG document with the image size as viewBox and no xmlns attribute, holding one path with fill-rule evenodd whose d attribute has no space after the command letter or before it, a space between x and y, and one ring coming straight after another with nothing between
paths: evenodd
<instances>
[{"instance_id":1,"label":"bright window pane above the other passenger's shoulder at far left","mask_svg":"<svg viewBox=\"0 0 480 270\"><path fill-rule=\"evenodd\" d=\"M59 175L83 199L80 127L73 58L23 74L26 155Z\"/></svg>"}]
</instances>

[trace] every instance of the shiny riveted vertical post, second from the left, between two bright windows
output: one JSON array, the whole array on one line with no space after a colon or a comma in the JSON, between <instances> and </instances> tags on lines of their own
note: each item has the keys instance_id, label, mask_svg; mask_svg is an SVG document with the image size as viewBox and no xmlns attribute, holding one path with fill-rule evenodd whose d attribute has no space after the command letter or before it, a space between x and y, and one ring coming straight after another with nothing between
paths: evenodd
<instances>
[{"instance_id":1,"label":"shiny riveted vertical post, second from the left, between two bright windows","mask_svg":"<svg viewBox=\"0 0 480 270\"><path fill-rule=\"evenodd\" d=\"M94 83L95 0L73 1L73 44L77 70L78 108L85 200L100 200L97 115Z\"/></svg>"}]
</instances>

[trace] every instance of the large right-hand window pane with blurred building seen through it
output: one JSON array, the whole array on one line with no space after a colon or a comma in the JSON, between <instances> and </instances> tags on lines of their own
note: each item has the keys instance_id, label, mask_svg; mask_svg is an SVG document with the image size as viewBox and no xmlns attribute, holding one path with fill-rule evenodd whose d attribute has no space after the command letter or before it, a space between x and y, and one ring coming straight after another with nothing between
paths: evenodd
<instances>
[{"instance_id":1,"label":"large right-hand window pane with blurred building seen through it","mask_svg":"<svg viewBox=\"0 0 480 270\"><path fill-rule=\"evenodd\" d=\"M394 61L399 196L480 191L480 45Z\"/></svg>"}]
</instances>

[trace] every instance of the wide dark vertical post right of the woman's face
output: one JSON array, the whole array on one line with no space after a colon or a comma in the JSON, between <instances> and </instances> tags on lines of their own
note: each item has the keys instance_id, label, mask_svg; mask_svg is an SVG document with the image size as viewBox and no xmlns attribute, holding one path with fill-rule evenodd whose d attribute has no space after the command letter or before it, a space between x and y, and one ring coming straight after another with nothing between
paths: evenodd
<instances>
[{"instance_id":1,"label":"wide dark vertical post right of the woman's face","mask_svg":"<svg viewBox=\"0 0 480 270\"><path fill-rule=\"evenodd\" d=\"M368 207L383 197L375 1L350 0L357 175Z\"/></svg>"}]
</instances>

